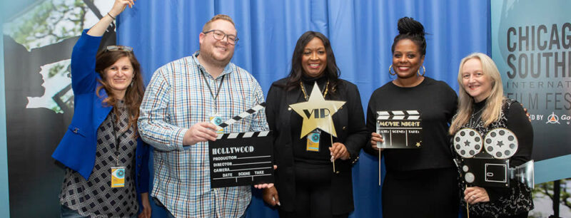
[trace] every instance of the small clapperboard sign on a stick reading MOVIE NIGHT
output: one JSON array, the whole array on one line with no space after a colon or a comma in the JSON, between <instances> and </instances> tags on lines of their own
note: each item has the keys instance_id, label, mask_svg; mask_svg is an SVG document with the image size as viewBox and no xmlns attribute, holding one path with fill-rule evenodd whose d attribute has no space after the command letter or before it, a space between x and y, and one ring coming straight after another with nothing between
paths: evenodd
<instances>
[{"instance_id":1,"label":"small clapperboard sign on a stick reading MOVIE NIGHT","mask_svg":"<svg viewBox=\"0 0 571 218\"><path fill-rule=\"evenodd\" d=\"M377 111L377 133L384 142L379 148L420 148L423 127L418 110Z\"/></svg>"}]
</instances>

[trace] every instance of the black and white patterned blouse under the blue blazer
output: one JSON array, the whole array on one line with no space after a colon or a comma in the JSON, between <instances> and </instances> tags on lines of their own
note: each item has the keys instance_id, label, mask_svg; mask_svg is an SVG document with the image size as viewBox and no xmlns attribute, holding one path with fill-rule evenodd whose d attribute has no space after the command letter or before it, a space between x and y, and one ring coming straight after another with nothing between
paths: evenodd
<instances>
[{"instance_id":1,"label":"black and white patterned blouse under the blue blazer","mask_svg":"<svg viewBox=\"0 0 571 218\"><path fill-rule=\"evenodd\" d=\"M134 166L136 131L133 125L127 129L128 111L123 101L118 101L116 108L121 111L119 122L113 125L116 115L111 110L97 129L96 159L89 180L66 168L59 202L84 217L133 217L138 212ZM118 166L125 167L125 186L112 188L111 167Z\"/></svg>"}]
</instances>

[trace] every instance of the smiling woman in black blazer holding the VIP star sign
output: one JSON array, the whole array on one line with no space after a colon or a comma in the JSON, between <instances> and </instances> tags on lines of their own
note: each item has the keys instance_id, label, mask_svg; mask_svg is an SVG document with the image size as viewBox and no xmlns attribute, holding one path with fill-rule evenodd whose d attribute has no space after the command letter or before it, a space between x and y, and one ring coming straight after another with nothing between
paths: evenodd
<instances>
[{"instance_id":1,"label":"smiling woman in black blazer holding the VIP star sign","mask_svg":"<svg viewBox=\"0 0 571 218\"><path fill-rule=\"evenodd\" d=\"M367 130L357 86L339 74L328 38L308 31L295 45L290 74L268 92L266 116L278 168L276 187L264 190L263 199L280 205L280 217L348 217L354 209L351 167ZM309 146L308 135L300 137L303 118L290 105L307 101L314 84L325 100L345 104L331 117L337 137L316 129L308 134L314 139Z\"/></svg>"}]
</instances>

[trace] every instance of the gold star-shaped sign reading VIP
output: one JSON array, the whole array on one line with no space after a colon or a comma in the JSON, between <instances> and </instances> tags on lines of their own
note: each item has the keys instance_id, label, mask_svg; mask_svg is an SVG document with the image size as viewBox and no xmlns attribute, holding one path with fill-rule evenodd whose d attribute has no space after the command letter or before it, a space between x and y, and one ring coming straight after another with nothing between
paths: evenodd
<instances>
[{"instance_id":1,"label":"gold star-shaped sign reading VIP","mask_svg":"<svg viewBox=\"0 0 571 218\"><path fill-rule=\"evenodd\" d=\"M331 116L337 113L337 110L344 104L345 101L325 100L323 95L321 95L321 90L319 90L317 83L315 83L308 101L290 105L290 108L303 118L299 138L308 135L308 133L311 133L311 131L316 128L320 128L320 130L337 137Z\"/></svg>"}]
</instances>

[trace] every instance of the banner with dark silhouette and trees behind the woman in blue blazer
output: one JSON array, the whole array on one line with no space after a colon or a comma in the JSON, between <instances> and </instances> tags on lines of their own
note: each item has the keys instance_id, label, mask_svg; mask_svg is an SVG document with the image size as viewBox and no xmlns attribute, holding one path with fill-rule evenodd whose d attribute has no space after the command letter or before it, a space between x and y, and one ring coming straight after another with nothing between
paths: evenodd
<instances>
[{"instance_id":1,"label":"banner with dark silhouette and trees behind the woman in blue blazer","mask_svg":"<svg viewBox=\"0 0 571 218\"><path fill-rule=\"evenodd\" d=\"M65 170L51 154L74 113L71 50L112 5L35 1L3 24L10 217L60 216ZM113 24L100 48L115 43Z\"/></svg>"}]
</instances>

